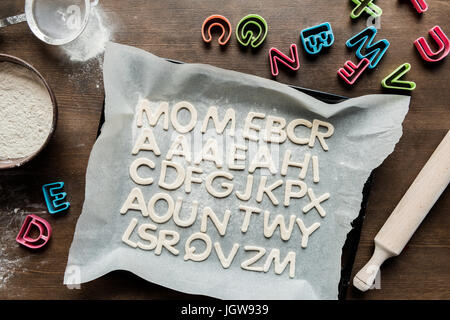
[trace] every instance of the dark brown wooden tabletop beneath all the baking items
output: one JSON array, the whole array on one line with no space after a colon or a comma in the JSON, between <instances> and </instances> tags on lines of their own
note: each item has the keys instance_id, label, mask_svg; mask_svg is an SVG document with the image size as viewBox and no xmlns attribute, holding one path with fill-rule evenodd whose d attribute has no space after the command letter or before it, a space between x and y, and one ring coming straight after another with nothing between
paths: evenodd
<instances>
[{"instance_id":1,"label":"dark brown wooden tabletop beneath all the baking items","mask_svg":"<svg viewBox=\"0 0 450 320\"><path fill-rule=\"evenodd\" d=\"M294 75L280 72L277 81L356 97L382 93L381 79L404 62L412 65L408 79L417 83L412 93L404 133L394 153L374 172L367 216L362 229L353 274L369 259L373 238L395 208L433 150L450 129L449 59L424 62L413 41L428 37L440 25L450 36L450 2L427 0L430 9L419 15L408 0L377 1L383 9L377 39L391 46L379 64L353 88L337 78L346 60L355 61L345 41L366 26L366 16L351 21L347 0L108 0L100 1L114 27L114 40L185 62L201 62L270 78L268 49L287 51L299 43L300 30L329 21L335 44L324 55L311 59L300 49L301 68ZM332 4L331 4L332 3ZM24 1L2 0L0 16L21 13ZM269 34L256 53L242 50L236 38L226 49L214 43L206 47L200 27L211 14L227 16L235 26L249 13L262 15ZM301 46L300 46L301 48ZM59 48L37 40L26 24L0 30L0 53L18 56L34 65L48 80L59 103L56 134L50 145L24 167L0 172L0 298L96 299L96 298L190 298L127 272L114 272L83 284L81 290L62 285L63 273L75 224L80 215L89 153L95 142L104 97L99 60L72 63ZM67 214L49 217L41 187L64 181L71 203ZM15 243L26 214L48 218L53 239L40 252ZM349 299L450 299L450 192L431 210L401 256L381 270L381 289L365 294L350 287Z\"/></svg>"}]
</instances>

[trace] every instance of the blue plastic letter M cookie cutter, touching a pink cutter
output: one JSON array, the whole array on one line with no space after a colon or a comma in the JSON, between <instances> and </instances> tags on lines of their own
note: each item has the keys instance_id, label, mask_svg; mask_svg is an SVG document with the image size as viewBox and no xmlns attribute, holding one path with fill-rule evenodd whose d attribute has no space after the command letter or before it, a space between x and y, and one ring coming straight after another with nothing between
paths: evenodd
<instances>
[{"instance_id":1,"label":"blue plastic letter M cookie cutter, touching a pink cutter","mask_svg":"<svg viewBox=\"0 0 450 320\"><path fill-rule=\"evenodd\" d=\"M381 58L389 48L389 41L386 39L373 43L376 35L377 29L371 26L354 35L346 42L346 45L349 48L359 45L358 50L356 51L356 56L359 59L369 59L369 69L373 69L378 65ZM362 54L363 49L365 49L365 54Z\"/></svg>"}]
</instances>

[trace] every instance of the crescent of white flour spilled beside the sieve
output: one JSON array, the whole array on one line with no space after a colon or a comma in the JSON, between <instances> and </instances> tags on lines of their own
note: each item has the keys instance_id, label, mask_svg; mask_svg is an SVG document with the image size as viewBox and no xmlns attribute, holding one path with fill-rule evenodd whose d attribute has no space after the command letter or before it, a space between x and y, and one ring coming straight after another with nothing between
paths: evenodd
<instances>
[{"instance_id":1,"label":"crescent of white flour spilled beside the sieve","mask_svg":"<svg viewBox=\"0 0 450 320\"><path fill-rule=\"evenodd\" d=\"M112 29L107 26L107 20L99 5L92 7L88 25L80 37L61 46L71 61L88 61L105 51L106 43L112 40Z\"/></svg>"}]
</instances>

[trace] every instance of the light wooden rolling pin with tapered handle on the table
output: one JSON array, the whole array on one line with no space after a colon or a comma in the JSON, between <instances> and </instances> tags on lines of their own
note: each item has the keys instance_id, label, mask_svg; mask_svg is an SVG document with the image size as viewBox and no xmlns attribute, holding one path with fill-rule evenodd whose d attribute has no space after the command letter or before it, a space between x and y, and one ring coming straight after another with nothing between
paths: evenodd
<instances>
[{"instance_id":1,"label":"light wooden rolling pin with tapered handle on the table","mask_svg":"<svg viewBox=\"0 0 450 320\"><path fill-rule=\"evenodd\" d=\"M356 288L372 287L381 264L402 252L449 182L450 131L376 235L372 258L353 279Z\"/></svg>"}]
</instances>

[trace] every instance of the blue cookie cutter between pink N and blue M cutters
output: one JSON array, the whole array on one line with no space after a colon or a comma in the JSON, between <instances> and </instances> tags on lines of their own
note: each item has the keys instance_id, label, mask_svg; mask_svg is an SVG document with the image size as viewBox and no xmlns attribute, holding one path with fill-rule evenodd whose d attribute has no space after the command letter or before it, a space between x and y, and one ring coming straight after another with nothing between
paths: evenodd
<instances>
[{"instance_id":1,"label":"blue cookie cutter between pink N and blue M cutters","mask_svg":"<svg viewBox=\"0 0 450 320\"><path fill-rule=\"evenodd\" d=\"M333 30L329 22L303 29L300 32L303 47L309 54L319 53L323 47L331 47L334 43Z\"/></svg>"}]
</instances>

